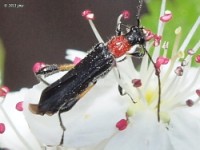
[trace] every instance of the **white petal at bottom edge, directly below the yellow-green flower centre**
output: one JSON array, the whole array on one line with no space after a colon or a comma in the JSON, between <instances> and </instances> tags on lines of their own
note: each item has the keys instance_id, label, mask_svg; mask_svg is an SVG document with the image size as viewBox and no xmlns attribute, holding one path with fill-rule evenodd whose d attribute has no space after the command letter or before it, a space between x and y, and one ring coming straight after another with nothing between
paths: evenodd
<instances>
[{"instance_id":1,"label":"white petal at bottom edge, directly below the yellow-green flower centre","mask_svg":"<svg viewBox=\"0 0 200 150\"><path fill-rule=\"evenodd\" d=\"M113 137L105 150L169 150L172 149L164 126L146 111L132 118L131 125Z\"/></svg>"}]
</instances>

